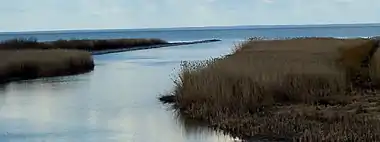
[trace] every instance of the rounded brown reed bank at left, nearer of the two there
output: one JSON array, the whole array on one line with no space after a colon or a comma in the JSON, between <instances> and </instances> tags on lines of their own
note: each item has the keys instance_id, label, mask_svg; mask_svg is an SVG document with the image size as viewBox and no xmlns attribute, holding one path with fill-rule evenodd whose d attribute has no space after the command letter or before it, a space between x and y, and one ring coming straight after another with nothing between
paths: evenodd
<instances>
[{"instance_id":1,"label":"rounded brown reed bank at left, nearer of the two there","mask_svg":"<svg viewBox=\"0 0 380 142\"><path fill-rule=\"evenodd\" d=\"M1 50L0 83L85 73L94 69L90 53L78 50Z\"/></svg>"}]
</instances>

